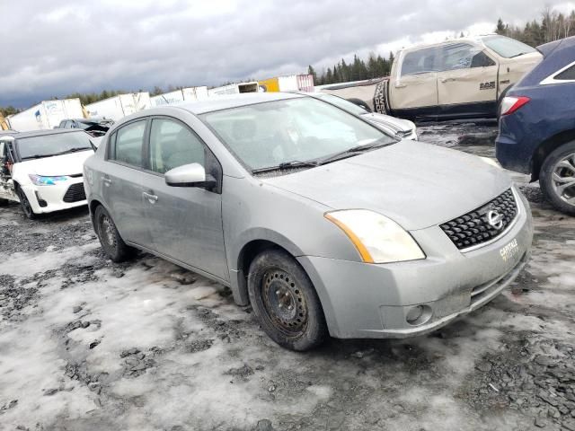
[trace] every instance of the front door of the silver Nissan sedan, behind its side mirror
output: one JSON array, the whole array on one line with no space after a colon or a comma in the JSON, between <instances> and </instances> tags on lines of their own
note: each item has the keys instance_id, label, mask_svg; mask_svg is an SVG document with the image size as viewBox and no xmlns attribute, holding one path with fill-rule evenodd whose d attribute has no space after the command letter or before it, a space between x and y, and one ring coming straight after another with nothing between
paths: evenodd
<instances>
[{"instance_id":1,"label":"front door of the silver Nissan sedan, behind its side mirror","mask_svg":"<svg viewBox=\"0 0 575 431\"><path fill-rule=\"evenodd\" d=\"M229 279L222 227L221 167L179 120L152 119L142 202L155 251L193 268ZM172 187L164 173L199 163L218 180L217 189Z\"/></svg>"}]
</instances>

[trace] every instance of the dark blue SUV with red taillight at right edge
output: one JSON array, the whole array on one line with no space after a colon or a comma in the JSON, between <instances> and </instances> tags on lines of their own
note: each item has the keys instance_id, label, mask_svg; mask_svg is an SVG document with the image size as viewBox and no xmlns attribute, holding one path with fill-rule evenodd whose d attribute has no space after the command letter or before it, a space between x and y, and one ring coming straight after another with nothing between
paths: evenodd
<instances>
[{"instance_id":1,"label":"dark blue SUV with red taillight at right edge","mask_svg":"<svg viewBox=\"0 0 575 431\"><path fill-rule=\"evenodd\" d=\"M553 206L575 216L575 37L537 49L543 61L500 102L497 159L530 173Z\"/></svg>"}]
</instances>

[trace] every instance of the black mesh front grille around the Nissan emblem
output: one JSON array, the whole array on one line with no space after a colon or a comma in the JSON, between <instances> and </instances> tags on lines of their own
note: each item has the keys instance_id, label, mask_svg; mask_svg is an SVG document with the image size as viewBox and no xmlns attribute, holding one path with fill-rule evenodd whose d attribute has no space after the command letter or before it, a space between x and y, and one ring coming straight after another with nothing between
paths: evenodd
<instances>
[{"instance_id":1,"label":"black mesh front grille around the Nissan emblem","mask_svg":"<svg viewBox=\"0 0 575 431\"><path fill-rule=\"evenodd\" d=\"M489 214L495 211L501 216L501 225L493 226ZM487 204L464 216L457 217L439 227L456 244L459 250L468 249L497 238L517 216L517 202L511 189L503 192Z\"/></svg>"}]
</instances>

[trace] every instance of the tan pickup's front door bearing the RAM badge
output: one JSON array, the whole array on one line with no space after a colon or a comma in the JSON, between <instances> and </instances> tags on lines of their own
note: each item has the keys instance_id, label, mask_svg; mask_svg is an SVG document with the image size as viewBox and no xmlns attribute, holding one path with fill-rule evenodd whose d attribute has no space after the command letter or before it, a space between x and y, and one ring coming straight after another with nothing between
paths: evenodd
<instances>
[{"instance_id":1,"label":"tan pickup's front door bearing the RAM badge","mask_svg":"<svg viewBox=\"0 0 575 431\"><path fill-rule=\"evenodd\" d=\"M439 117L484 117L497 111L495 60L470 43L441 50L438 72Z\"/></svg>"}]
</instances>

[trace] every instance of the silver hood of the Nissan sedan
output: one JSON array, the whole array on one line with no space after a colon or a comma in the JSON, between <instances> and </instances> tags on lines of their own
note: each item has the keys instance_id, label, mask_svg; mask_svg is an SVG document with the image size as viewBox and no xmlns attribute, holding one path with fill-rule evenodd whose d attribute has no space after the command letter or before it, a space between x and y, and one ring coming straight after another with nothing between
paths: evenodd
<instances>
[{"instance_id":1,"label":"silver hood of the Nissan sedan","mask_svg":"<svg viewBox=\"0 0 575 431\"><path fill-rule=\"evenodd\" d=\"M261 180L333 209L376 211L407 230L464 215L511 187L503 170L479 157L408 140Z\"/></svg>"}]
</instances>

